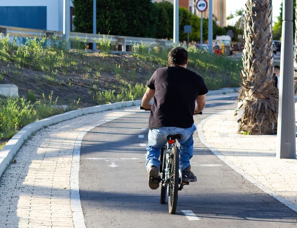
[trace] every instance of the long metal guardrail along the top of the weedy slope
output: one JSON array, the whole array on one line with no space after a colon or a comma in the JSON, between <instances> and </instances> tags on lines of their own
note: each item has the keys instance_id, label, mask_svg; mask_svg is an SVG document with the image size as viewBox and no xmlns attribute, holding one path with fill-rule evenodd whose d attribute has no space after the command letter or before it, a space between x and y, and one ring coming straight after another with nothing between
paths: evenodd
<instances>
[{"instance_id":1,"label":"long metal guardrail along the top of the weedy slope","mask_svg":"<svg viewBox=\"0 0 297 228\"><path fill-rule=\"evenodd\" d=\"M34 36L57 36L58 38L63 38L63 32L61 31L51 31L51 30L40 30L40 29L31 29L31 28L18 28L18 27L10 27L0 25L0 33L4 35L9 34L10 36L18 36L24 38L32 38ZM77 33L70 32L69 38L76 39L80 38L81 40L85 40L87 43L92 43L94 40L102 39L102 34L92 34L92 33ZM132 36L114 36L109 35L108 39L111 42L114 42L116 45L122 46L122 51L126 51L126 46L133 46L135 44L148 44L151 46L172 46L173 42L165 39L155 39L155 38L143 38L143 37L132 37Z\"/></svg>"}]
</instances>

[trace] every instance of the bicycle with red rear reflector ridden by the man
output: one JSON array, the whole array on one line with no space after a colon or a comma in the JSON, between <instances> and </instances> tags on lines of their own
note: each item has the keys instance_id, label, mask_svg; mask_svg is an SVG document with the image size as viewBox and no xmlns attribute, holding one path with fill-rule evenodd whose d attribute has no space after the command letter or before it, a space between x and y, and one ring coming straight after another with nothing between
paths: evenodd
<instances>
[{"instance_id":1,"label":"bicycle with red rear reflector ridden by the man","mask_svg":"<svg viewBox=\"0 0 297 228\"><path fill-rule=\"evenodd\" d=\"M150 110L141 106L140 109ZM197 114L202 115L202 112ZM161 182L160 203L165 204L168 195L168 211L170 214L176 212L178 191L181 191L184 185L189 185L189 182L183 182L181 169L179 168L179 149L176 145L176 139L181 139L181 137L181 134L167 136L167 142L161 149L160 155L159 173L162 173L162 177L151 177L151 182Z\"/></svg>"}]
</instances>

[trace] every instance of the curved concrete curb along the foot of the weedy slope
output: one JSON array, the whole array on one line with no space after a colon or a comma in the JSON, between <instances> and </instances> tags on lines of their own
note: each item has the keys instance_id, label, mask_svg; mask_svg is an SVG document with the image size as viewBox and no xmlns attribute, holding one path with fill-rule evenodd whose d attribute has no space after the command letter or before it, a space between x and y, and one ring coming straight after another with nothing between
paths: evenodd
<instances>
[{"instance_id":1,"label":"curved concrete curb along the foot of the weedy slope","mask_svg":"<svg viewBox=\"0 0 297 228\"><path fill-rule=\"evenodd\" d=\"M219 90L211 90L208 91L207 95L219 95L219 94L227 94L234 93L240 89L238 88L222 88ZM97 113L106 110L114 110L123 107L130 107L135 105L140 105L141 100L135 101L126 101L126 102L116 102L108 105L97 105L93 107L86 107L78 110L69 111L66 113L62 113L59 115L54 115L49 118L45 118L39 121L35 121L23 127L17 134L15 134L7 144L0 150L0 176L2 176L3 172L10 164L13 156L18 152L20 147L22 147L23 143L30 137L32 133L42 129L43 127L50 126L55 123L59 123L61 121L69 120L80 115L86 115L89 113Z\"/></svg>"}]
</instances>

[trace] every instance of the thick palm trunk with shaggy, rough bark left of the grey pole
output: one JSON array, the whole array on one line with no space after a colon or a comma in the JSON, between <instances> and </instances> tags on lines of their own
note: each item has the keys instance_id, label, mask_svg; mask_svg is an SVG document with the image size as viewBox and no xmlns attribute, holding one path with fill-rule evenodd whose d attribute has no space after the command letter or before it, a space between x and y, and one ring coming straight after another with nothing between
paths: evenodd
<instances>
[{"instance_id":1,"label":"thick palm trunk with shaggy, rough bark left of the grey pole","mask_svg":"<svg viewBox=\"0 0 297 228\"><path fill-rule=\"evenodd\" d=\"M270 0L247 0L244 19L242 89L244 108L238 131L246 134L277 132L278 90L272 64L272 7Z\"/></svg>"}]
</instances>

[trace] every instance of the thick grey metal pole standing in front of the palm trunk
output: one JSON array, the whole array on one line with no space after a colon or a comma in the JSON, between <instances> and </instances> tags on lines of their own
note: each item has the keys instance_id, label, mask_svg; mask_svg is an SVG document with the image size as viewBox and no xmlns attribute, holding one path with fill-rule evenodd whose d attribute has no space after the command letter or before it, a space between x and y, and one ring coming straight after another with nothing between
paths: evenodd
<instances>
[{"instance_id":1,"label":"thick grey metal pole standing in front of the palm trunk","mask_svg":"<svg viewBox=\"0 0 297 228\"><path fill-rule=\"evenodd\" d=\"M277 120L277 158L296 158L293 75L293 0L283 1Z\"/></svg>"}]
</instances>

